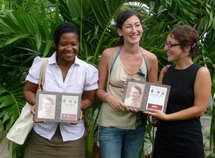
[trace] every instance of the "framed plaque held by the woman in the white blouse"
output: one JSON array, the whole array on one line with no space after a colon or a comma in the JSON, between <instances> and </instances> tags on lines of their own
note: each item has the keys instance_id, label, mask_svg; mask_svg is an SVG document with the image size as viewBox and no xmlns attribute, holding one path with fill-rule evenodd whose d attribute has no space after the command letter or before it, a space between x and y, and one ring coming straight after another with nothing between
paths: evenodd
<instances>
[{"instance_id":1,"label":"framed plaque held by the woman in the white blouse","mask_svg":"<svg viewBox=\"0 0 215 158\"><path fill-rule=\"evenodd\" d=\"M36 94L36 120L52 122L78 122L81 95L38 91Z\"/></svg>"}]
</instances>

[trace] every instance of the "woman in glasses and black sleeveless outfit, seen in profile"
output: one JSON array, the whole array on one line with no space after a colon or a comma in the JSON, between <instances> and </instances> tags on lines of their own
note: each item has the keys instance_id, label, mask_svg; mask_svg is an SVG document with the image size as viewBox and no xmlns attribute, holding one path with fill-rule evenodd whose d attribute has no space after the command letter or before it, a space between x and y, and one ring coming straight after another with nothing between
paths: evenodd
<instances>
[{"instance_id":1,"label":"woman in glasses and black sleeveless outfit, seen in profile","mask_svg":"<svg viewBox=\"0 0 215 158\"><path fill-rule=\"evenodd\" d=\"M167 37L164 50L169 62L160 73L160 83L170 85L166 114L145 112L160 119L153 158L204 158L200 124L211 93L211 78L206 67L193 63L199 36L189 26L175 28Z\"/></svg>"}]
</instances>

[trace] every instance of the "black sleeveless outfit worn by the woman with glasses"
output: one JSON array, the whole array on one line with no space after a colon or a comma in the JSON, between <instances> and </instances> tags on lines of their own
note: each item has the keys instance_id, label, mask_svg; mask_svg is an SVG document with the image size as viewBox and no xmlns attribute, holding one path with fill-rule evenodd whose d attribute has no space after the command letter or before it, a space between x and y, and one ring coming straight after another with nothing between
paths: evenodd
<instances>
[{"instance_id":1,"label":"black sleeveless outfit worn by the woman with glasses","mask_svg":"<svg viewBox=\"0 0 215 158\"><path fill-rule=\"evenodd\" d=\"M194 83L201 66L186 69L169 67L163 84L170 85L166 113L174 113L194 105ZM204 158L200 118L182 121L160 121L156 132L153 158Z\"/></svg>"}]
</instances>

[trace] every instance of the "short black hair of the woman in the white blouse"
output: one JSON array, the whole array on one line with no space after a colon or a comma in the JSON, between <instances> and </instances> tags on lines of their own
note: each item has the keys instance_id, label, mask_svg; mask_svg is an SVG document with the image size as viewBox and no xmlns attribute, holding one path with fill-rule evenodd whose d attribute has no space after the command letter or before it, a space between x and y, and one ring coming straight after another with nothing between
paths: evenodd
<instances>
[{"instance_id":1,"label":"short black hair of the woman in the white blouse","mask_svg":"<svg viewBox=\"0 0 215 158\"><path fill-rule=\"evenodd\" d=\"M64 24L59 25L54 32L54 42L55 42L55 45L57 48L58 48L59 40L60 40L60 37L62 36L62 34L69 33L69 32L75 33L78 36L78 41L80 42L80 35L79 35L79 31L76 28L76 26L70 22L64 23Z\"/></svg>"}]
</instances>

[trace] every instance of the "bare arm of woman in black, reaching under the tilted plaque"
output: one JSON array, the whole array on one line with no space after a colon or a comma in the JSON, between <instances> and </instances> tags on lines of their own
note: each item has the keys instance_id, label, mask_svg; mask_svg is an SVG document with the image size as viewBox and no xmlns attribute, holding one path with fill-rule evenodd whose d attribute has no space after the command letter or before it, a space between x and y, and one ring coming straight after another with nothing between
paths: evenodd
<instances>
[{"instance_id":1,"label":"bare arm of woman in black, reaching under the tilted plaque","mask_svg":"<svg viewBox=\"0 0 215 158\"><path fill-rule=\"evenodd\" d=\"M150 112L145 113L166 121L187 120L199 117L202 116L206 111L210 94L211 94L210 73L207 68L202 67L199 69L196 76L196 81L194 83L195 100L194 105L192 107L172 114L165 114L158 110L150 110Z\"/></svg>"}]
</instances>

